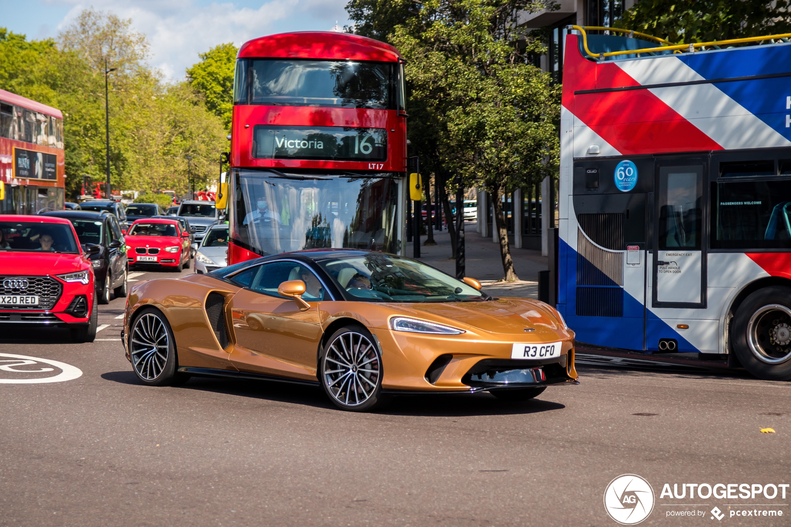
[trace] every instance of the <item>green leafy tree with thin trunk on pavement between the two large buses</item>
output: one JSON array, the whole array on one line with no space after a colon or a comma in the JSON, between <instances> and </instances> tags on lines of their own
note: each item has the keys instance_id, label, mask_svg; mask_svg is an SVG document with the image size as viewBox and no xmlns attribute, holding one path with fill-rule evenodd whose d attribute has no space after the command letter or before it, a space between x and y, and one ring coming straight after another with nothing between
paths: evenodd
<instances>
[{"instance_id":1,"label":"green leafy tree with thin trunk on pavement between the two large buses","mask_svg":"<svg viewBox=\"0 0 791 527\"><path fill-rule=\"evenodd\" d=\"M528 60L543 46L517 24L520 12L547 8L543 1L429 0L388 36L408 61L409 134L422 163L492 195L505 280L518 277L501 196L558 167L559 89Z\"/></svg>"}]
</instances>

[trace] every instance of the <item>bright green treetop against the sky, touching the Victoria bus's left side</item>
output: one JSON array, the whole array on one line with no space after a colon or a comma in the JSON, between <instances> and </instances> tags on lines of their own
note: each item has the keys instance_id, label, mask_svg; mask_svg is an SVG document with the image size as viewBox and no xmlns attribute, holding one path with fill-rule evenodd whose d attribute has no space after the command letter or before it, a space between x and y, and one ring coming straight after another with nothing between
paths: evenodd
<instances>
[{"instance_id":1,"label":"bright green treetop against the sky, touching the Victoria bus's left side","mask_svg":"<svg viewBox=\"0 0 791 527\"><path fill-rule=\"evenodd\" d=\"M199 54L201 61L187 68L190 85L226 129L230 129L233 115L233 70L238 52L233 43L219 44Z\"/></svg>"}]
</instances>

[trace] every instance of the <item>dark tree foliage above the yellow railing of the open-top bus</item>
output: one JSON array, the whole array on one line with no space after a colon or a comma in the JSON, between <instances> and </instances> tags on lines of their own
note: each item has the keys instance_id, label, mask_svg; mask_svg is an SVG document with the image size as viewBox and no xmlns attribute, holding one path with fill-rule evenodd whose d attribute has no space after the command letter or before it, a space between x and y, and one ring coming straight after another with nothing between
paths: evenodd
<instances>
[{"instance_id":1,"label":"dark tree foliage above the yellow railing of the open-top bus","mask_svg":"<svg viewBox=\"0 0 791 527\"><path fill-rule=\"evenodd\" d=\"M618 27L674 43L712 42L791 32L789 0L641 0Z\"/></svg>"}]
</instances>

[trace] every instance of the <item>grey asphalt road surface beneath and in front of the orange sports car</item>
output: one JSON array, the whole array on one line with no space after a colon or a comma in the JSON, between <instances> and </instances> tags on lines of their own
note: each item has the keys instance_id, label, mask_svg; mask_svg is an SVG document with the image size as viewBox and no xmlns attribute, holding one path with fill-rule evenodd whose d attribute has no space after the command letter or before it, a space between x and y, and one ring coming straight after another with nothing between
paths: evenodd
<instances>
[{"instance_id":1,"label":"grey asphalt road surface beneath and in front of the orange sports car","mask_svg":"<svg viewBox=\"0 0 791 527\"><path fill-rule=\"evenodd\" d=\"M136 279L156 276L175 275ZM791 483L789 383L588 366L534 401L402 397L354 414L302 387L142 386L119 341L124 303L100 307L93 344L2 335L0 353L82 375L8 382L61 369L0 356L52 368L0 367L0 525L617 525L603 495L626 473L655 493L642 525L791 525L791 491L660 498L665 483ZM730 516L747 506L784 516ZM691 510L705 515L668 516Z\"/></svg>"}]
</instances>

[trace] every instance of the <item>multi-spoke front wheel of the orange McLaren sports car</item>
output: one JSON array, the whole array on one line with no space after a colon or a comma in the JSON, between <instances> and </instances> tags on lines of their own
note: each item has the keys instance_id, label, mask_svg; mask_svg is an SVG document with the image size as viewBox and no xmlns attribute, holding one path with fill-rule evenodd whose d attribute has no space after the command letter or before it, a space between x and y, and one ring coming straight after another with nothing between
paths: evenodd
<instances>
[{"instance_id":1,"label":"multi-spoke front wheel of the orange McLaren sports car","mask_svg":"<svg viewBox=\"0 0 791 527\"><path fill-rule=\"evenodd\" d=\"M339 334L327 346L323 362L324 387L344 407L364 405L377 393L381 359L363 333Z\"/></svg>"}]
</instances>

